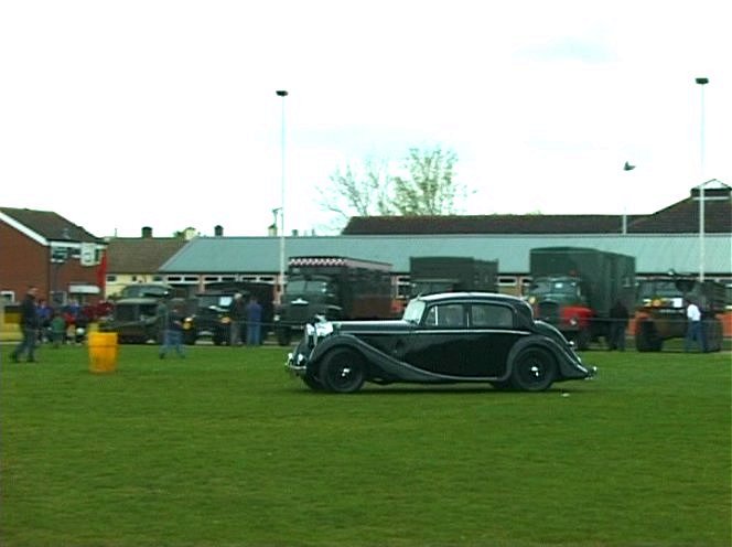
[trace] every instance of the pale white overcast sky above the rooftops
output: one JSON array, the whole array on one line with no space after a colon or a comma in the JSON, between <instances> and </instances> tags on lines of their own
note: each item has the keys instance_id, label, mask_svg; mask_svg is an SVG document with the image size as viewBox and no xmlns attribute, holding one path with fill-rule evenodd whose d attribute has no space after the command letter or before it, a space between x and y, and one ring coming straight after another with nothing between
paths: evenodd
<instances>
[{"instance_id":1,"label":"pale white overcast sky above the rooftops","mask_svg":"<svg viewBox=\"0 0 732 547\"><path fill-rule=\"evenodd\" d=\"M466 214L652 213L732 184L728 8L0 0L0 205L266 235L284 135L288 233L324 233L336 168L412 147L456 153Z\"/></svg>"}]
</instances>

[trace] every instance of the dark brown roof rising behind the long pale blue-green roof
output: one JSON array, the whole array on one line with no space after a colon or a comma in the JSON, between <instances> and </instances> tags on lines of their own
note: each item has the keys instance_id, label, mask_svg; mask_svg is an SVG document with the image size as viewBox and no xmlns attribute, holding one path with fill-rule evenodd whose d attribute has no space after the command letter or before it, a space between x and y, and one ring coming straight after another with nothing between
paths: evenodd
<instances>
[{"instance_id":1,"label":"dark brown roof rising behind the long pale blue-green roof","mask_svg":"<svg viewBox=\"0 0 732 547\"><path fill-rule=\"evenodd\" d=\"M732 233L730 186L712 179L691 190L683 201L649 215L628 215L629 234L693 234L699 232L699 194L704 187L704 230ZM623 215L448 215L355 216L343 235L408 234L621 234Z\"/></svg>"}]
</instances>

